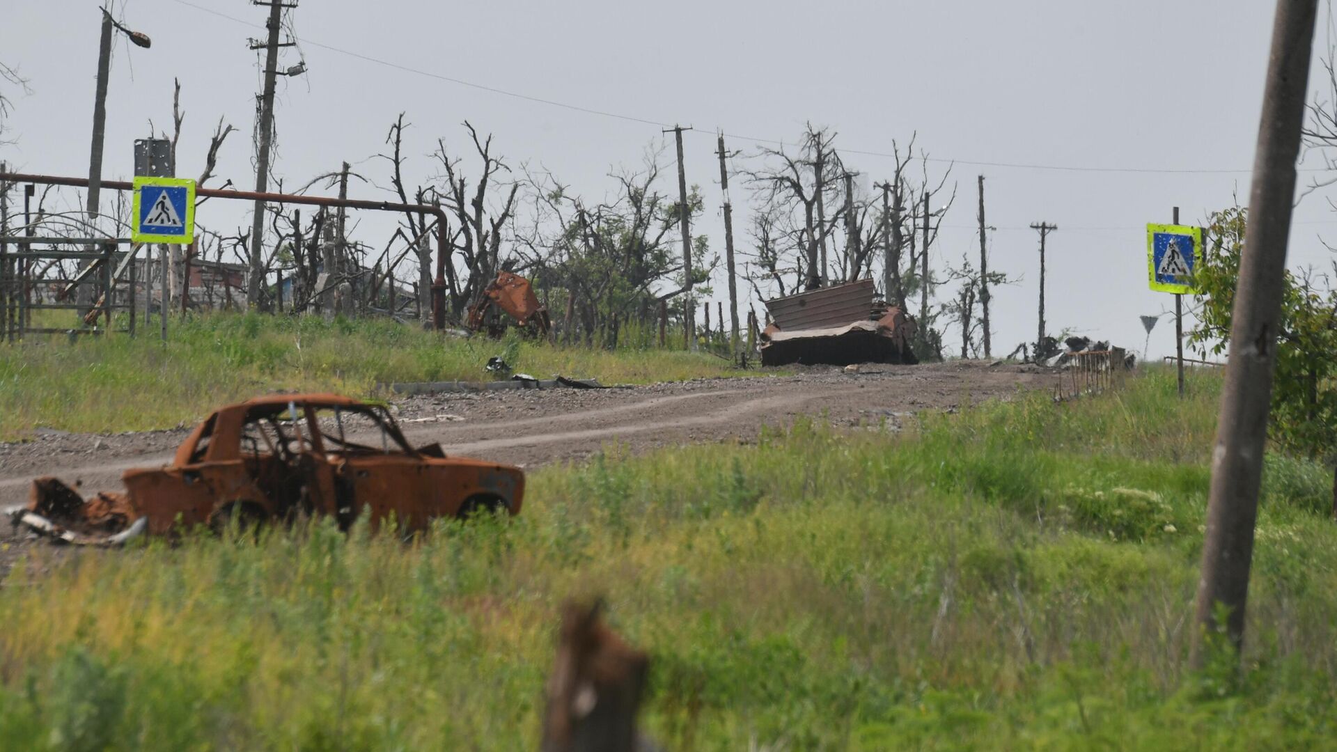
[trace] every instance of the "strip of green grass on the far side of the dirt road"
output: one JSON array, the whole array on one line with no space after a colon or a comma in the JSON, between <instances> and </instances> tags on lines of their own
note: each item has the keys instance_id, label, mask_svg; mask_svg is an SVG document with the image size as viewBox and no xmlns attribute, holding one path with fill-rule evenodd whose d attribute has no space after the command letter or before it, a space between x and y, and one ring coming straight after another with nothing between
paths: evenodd
<instances>
[{"instance_id":1,"label":"strip of green grass on the far side of the dirt road","mask_svg":"<svg viewBox=\"0 0 1337 752\"><path fill-rule=\"evenodd\" d=\"M384 320L209 314L172 318L163 347L156 324L155 317L152 331L138 339L82 337L71 344L52 336L0 344L0 440L21 439L39 426L94 432L170 428L275 389L376 396L381 383L493 380L483 367L495 355L540 379L560 373L604 384L743 373L707 353L636 347L644 336L608 351L443 339Z\"/></svg>"}]
</instances>

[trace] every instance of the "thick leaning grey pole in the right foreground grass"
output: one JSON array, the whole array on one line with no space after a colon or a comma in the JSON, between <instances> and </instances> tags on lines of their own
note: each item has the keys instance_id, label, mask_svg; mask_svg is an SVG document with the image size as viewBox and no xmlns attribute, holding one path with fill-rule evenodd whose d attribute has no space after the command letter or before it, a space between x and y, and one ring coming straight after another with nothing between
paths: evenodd
<instances>
[{"instance_id":1,"label":"thick leaning grey pole in the right foreground grass","mask_svg":"<svg viewBox=\"0 0 1337 752\"><path fill-rule=\"evenodd\" d=\"M1230 322L1230 360L1221 391L1213 452L1207 531L1202 549L1193 630L1195 666L1206 662L1203 634L1213 634L1218 605L1227 609L1226 634L1243 645L1245 602L1253 559L1258 487L1267 440L1277 331L1286 273L1296 155L1305 118L1305 91L1317 0L1278 0L1263 86L1262 119L1249 195L1249 227Z\"/></svg>"}]
</instances>

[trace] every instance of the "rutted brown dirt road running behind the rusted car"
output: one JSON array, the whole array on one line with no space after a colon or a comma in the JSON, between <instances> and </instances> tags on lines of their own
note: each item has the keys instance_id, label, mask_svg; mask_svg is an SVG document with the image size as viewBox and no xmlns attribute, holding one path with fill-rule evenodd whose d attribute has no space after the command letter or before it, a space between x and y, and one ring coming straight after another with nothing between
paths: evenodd
<instances>
[{"instance_id":1,"label":"rutted brown dirt road running behind the rusted car","mask_svg":"<svg viewBox=\"0 0 1337 752\"><path fill-rule=\"evenodd\" d=\"M857 375L813 368L797 376L635 388L418 396L398 400L394 408L416 446L440 442L448 454L535 467L580 459L612 443L642 452L753 438L762 426L797 415L825 415L838 426L884 419L894 424L924 409L1008 397L1024 387L1048 388L1052 379L1032 367L977 363L874 365ZM187 430L43 432L32 442L0 444L0 507L27 500L28 483L37 475L80 480L86 494L119 490L126 468L167 463ZM8 535L0 530L0 537Z\"/></svg>"}]
</instances>

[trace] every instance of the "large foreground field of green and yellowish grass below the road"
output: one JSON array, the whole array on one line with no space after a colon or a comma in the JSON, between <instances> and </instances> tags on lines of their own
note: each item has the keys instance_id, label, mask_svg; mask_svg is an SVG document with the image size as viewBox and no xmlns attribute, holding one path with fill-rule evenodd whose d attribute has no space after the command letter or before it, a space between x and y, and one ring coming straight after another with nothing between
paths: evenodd
<instances>
[{"instance_id":1,"label":"large foreground field of green and yellowish grass below the road","mask_svg":"<svg viewBox=\"0 0 1337 752\"><path fill-rule=\"evenodd\" d=\"M1337 732L1330 476L1267 458L1242 674L1190 673L1218 385L1152 371L910 432L818 423L531 475L508 525L48 561L0 589L23 749L532 749L607 594L670 749L1296 749Z\"/></svg>"}]
</instances>

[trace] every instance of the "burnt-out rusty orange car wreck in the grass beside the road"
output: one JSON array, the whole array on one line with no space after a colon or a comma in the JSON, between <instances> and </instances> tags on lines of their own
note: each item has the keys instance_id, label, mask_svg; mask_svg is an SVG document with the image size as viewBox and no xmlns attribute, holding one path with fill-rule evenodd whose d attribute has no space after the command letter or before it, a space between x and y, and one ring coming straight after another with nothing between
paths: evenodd
<instances>
[{"instance_id":1,"label":"burnt-out rusty orange car wreck in the grass beside the road","mask_svg":"<svg viewBox=\"0 0 1337 752\"><path fill-rule=\"evenodd\" d=\"M55 478L32 483L15 526L68 543L116 545L143 533L253 526L329 515L346 530L366 512L402 533L435 518L505 510L524 496L512 466L412 447L389 411L338 395L271 395L205 419L159 468L128 470L126 492L83 499Z\"/></svg>"}]
</instances>

